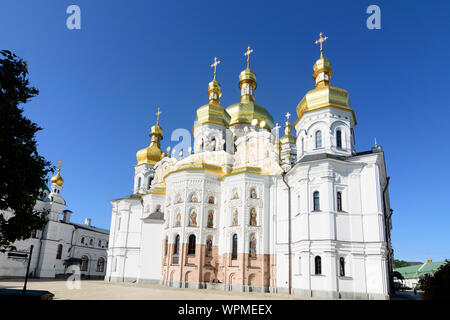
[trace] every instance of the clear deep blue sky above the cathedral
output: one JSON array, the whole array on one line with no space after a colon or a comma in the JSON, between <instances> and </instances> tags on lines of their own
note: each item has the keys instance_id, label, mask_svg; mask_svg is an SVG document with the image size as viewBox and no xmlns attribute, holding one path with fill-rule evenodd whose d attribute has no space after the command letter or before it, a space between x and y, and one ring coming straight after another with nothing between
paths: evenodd
<instances>
[{"instance_id":1,"label":"clear deep blue sky above the cathedral","mask_svg":"<svg viewBox=\"0 0 450 320\"><path fill-rule=\"evenodd\" d=\"M71 4L81 30L66 27ZM366 27L371 4L381 30ZM40 94L26 115L44 128L40 153L63 160L73 220L109 229L109 200L131 193L157 106L165 150L207 102L215 56L221 104L239 100L250 45L256 101L282 123L313 88L324 32L332 84L356 112L357 151L374 137L385 151L395 257L437 261L450 258L449 12L448 1L1 1L0 48L29 64Z\"/></svg>"}]
</instances>

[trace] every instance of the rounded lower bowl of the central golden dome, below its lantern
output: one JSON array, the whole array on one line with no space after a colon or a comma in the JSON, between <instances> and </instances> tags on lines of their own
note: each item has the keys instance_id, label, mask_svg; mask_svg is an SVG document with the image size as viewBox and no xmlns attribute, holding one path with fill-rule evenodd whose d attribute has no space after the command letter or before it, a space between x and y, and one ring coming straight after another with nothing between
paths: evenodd
<instances>
[{"instance_id":1,"label":"rounded lower bowl of the central golden dome, below its lantern","mask_svg":"<svg viewBox=\"0 0 450 320\"><path fill-rule=\"evenodd\" d=\"M235 124L251 124L253 119L265 122L264 128L272 130L273 118L270 113L259 104L253 101L238 102L227 107L226 111L230 115L230 126Z\"/></svg>"}]
</instances>

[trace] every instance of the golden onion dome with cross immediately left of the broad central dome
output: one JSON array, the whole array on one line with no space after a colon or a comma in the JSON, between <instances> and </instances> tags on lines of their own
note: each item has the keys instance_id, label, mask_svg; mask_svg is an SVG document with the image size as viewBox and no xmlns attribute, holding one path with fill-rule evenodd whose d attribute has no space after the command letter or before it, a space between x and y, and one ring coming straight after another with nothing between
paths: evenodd
<instances>
[{"instance_id":1,"label":"golden onion dome with cross immediately left of the broad central dome","mask_svg":"<svg viewBox=\"0 0 450 320\"><path fill-rule=\"evenodd\" d=\"M216 67L220 63L217 58L214 58L214 63L211 67L214 67L214 79L208 84L208 104L201 106L197 109L197 116L195 123L197 125L205 123L213 123L228 128L230 123L230 116L225 109L220 105L220 97L222 92L220 91L220 84L216 80Z\"/></svg>"}]
</instances>

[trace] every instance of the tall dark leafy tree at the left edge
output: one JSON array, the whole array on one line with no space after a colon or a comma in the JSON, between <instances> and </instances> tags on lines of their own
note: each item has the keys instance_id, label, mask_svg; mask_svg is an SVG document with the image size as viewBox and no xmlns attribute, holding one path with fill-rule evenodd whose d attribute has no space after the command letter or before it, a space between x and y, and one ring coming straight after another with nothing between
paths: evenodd
<instances>
[{"instance_id":1,"label":"tall dark leafy tree at the left edge","mask_svg":"<svg viewBox=\"0 0 450 320\"><path fill-rule=\"evenodd\" d=\"M19 106L37 96L30 86L27 63L8 50L0 51L0 210L11 209L9 219L0 214L0 250L14 248L16 240L47 223L45 212L34 205L47 175L54 169L37 152L37 124L23 116Z\"/></svg>"}]
</instances>

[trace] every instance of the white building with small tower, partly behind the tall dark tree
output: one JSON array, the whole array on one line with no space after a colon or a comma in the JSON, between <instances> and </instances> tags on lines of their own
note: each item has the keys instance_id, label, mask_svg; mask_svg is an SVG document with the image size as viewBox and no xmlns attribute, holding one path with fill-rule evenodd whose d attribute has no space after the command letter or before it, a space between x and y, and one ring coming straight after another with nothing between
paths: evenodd
<instances>
[{"instance_id":1,"label":"white building with small tower, partly behind the tall dark tree","mask_svg":"<svg viewBox=\"0 0 450 320\"><path fill-rule=\"evenodd\" d=\"M36 211L49 210L49 221L43 230L33 233L32 238L13 243L17 251L29 251L33 245L30 263L31 277L67 277L77 267L82 278L103 279L106 273L109 241L107 230L90 225L70 222L72 212L64 210L65 200L61 197L62 187L52 184L51 191L42 190L37 200ZM64 210L64 211L63 211ZM6 219L14 212L0 212ZM62 219L61 219L62 218ZM0 278L24 277L27 262L8 258L8 253L0 253Z\"/></svg>"}]
</instances>

